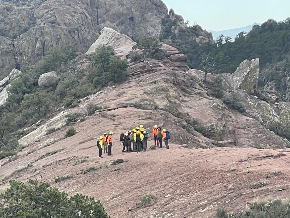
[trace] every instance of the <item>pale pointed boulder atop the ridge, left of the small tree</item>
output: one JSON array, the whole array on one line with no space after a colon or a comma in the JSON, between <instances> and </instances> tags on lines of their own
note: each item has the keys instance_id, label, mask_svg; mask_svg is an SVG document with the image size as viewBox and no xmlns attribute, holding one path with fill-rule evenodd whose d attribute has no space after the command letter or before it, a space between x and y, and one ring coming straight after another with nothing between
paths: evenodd
<instances>
[{"instance_id":1,"label":"pale pointed boulder atop the ridge, left of the small tree","mask_svg":"<svg viewBox=\"0 0 290 218\"><path fill-rule=\"evenodd\" d=\"M85 54L92 54L97 48L106 45L114 49L114 53L119 56L126 56L136 45L129 36L121 34L112 28L105 27L101 30L100 37L91 45Z\"/></svg>"}]
</instances>

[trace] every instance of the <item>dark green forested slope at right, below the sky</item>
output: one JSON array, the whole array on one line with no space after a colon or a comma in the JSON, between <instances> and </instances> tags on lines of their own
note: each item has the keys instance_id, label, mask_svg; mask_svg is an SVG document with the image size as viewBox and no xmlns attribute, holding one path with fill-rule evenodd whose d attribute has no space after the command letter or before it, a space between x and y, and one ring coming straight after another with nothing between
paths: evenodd
<instances>
[{"instance_id":1,"label":"dark green forested slope at right, below the sky","mask_svg":"<svg viewBox=\"0 0 290 218\"><path fill-rule=\"evenodd\" d=\"M283 61L276 66L274 71L266 74L260 85L267 81L276 81L276 89L282 91L282 72L290 70L290 18L285 21L267 21L261 26L253 27L249 34L241 32L232 42L227 36L221 35L216 45L206 42L201 45L196 43L197 26L188 26L179 30L178 34L172 33L172 26L176 21L168 18L163 20L161 41L170 43L178 48L181 53L188 56L188 65L194 69L202 69L202 55L209 55L215 63L215 73L234 73L239 64L245 59L260 58L260 67L266 68L269 64Z\"/></svg>"}]
</instances>

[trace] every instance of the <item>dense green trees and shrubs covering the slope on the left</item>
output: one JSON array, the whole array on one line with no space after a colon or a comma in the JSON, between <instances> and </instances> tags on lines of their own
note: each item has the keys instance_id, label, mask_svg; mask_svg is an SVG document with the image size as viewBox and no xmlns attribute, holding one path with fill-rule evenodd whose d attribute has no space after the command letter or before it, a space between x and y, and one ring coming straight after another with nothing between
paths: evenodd
<instances>
[{"instance_id":1,"label":"dense green trees and shrubs covering the slope on the left","mask_svg":"<svg viewBox=\"0 0 290 218\"><path fill-rule=\"evenodd\" d=\"M72 74L69 64L75 57L73 46L55 46L10 83L9 97L0 107L0 151L21 149L17 140L26 133L19 129L48 117L62 105L74 107L80 98L127 77L127 61L113 55L110 47L99 48L88 57L91 64L86 69ZM38 78L49 71L56 71L62 79L50 87L39 87Z\"/></svg>"}]
</instances>

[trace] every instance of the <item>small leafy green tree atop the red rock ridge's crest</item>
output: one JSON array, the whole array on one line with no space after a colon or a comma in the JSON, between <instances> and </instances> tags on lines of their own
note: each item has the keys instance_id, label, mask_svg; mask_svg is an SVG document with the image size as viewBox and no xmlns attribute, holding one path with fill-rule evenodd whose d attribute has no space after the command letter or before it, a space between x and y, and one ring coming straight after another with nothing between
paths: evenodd
<instances>
[{"instance_id":1,"label":"small leafy green tree atop the red rock ridge's crest","mask_svg":"<svg viewBox=\"0 0 290 218\"><path fill-rule=\"evenodd\" d=\"M139 42L133 46L132 50L140 49L143 51L144 58L143 61L146 60L147 54L152 52L156 53L162 47L161 43L157 38L154 37L142 37Z\"/></svg>"}]
</instances>

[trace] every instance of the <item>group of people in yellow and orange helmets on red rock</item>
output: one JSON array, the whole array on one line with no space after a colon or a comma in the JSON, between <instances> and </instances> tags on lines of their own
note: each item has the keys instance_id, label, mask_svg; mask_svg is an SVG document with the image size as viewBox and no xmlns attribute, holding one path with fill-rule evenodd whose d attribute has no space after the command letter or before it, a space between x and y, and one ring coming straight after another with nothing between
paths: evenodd
<instances>
[{"instance_id":1,"label":"group of people in yellow and orange helmets on red rock","mask_svg":"<svg viewBox=\"0 0 290 218\"><path fill-rule=\"evenodd\" d=\"M152 135L154 137L155 147L162 148L164 139L165 146L169 149L168 140L171 135L168 130L161 129L161 127L154 126L152 130ZM149 134L143 125L137 126L134 129L127 131L126 133L121 133L120 141L123 144L122 152L141 152L147 150L147 141ZM102 151L104 148L104 153L108 153L108 156L112 155L112 142L113 142L113 132L108 135L106 133L100 136L97 146L99 148L99 158L102 158ZM125 151L126 150L126 151Z\"/></svg>"}]
</instances>

